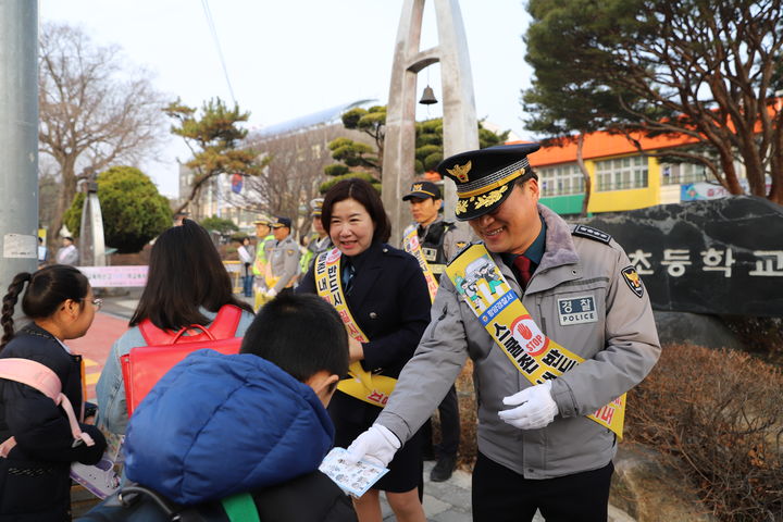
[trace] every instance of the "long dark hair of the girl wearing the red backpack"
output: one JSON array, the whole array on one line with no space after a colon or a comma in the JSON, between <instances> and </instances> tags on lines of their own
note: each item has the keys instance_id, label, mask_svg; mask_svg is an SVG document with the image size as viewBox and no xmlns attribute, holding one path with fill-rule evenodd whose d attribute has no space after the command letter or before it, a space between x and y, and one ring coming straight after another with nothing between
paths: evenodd
<instances>
[{"instance_id":1,"label":"long dark hair of the girl wearing the red backpack","mask_svg":"<svg viewBox=\"0 0 783 522\"><path fill-rule=\"evenodd\" d=\"M173 226L156 239L150 254L147 286L136 307L130 326L145 319L164 330L210 322L199 307L216 312L234 304L252 313L252 308L233 295L228 272L209 233L191 220Z\"/></svg>"}]
</instances>

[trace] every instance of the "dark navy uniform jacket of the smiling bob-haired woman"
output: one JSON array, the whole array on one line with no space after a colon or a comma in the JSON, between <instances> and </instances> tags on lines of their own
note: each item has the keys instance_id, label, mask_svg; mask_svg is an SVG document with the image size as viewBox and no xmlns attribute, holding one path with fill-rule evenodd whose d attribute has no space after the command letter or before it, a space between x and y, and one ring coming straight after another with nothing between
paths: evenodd
<instances>
[{"instance_id":1,"label":"dark navy uniform jacket of the smiling bob-haired woman","mask_svg":"<svg viewBox=\"0 0 783 522\"><path fill-rule=\"evenodd\" d=\"M386 244L373 243L364 252L351 282L346 302L365 343L362 366L371 372L397 377L413 356L430 321L430 294L413 256ZM345 258L340 259L340 270ZM298 293L316 294L314 268L297 287ZM361 422L365 409L381 411L349 395L337 391L330 403L334 418ZM339 430L339 426L338 426Z\"/></svg>"}]
</instances>

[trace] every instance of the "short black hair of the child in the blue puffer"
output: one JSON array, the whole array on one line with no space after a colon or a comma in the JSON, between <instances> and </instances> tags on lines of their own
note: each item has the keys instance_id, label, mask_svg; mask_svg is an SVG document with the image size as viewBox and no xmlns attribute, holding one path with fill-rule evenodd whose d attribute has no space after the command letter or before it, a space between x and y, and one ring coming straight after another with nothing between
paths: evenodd
<instances>
[{"instance_id":1,"label":"short black hair of the child in the blue puffer","mask_svg":"<svg viewBox=\"0 0 783 522\"><path fill-rule=\"evenodd\" d=\"M337 311L312 294L277 296L245 332L241 353L253 353L304 382L325 370L348 373L348 334Z\"/></svg>"}]
</instances>

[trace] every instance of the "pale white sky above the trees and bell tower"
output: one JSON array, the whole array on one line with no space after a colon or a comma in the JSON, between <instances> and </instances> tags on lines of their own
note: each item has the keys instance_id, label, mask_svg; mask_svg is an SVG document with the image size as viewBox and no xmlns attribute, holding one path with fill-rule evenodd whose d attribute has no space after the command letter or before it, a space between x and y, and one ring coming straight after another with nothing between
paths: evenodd
<instances>
[{"instance_id":1,"label":"pale white sky above the trees and bell tower","mask_svg":"<svg viewBox=\"0 0 783 522\"><path fill-rule=\"evenodd\" d=\"M42 21L82 26L99 45L116 44L128 63L153 74L161 91L190 105L231 101L202 0L40 0ZM402 0L210 0L228 76L239 105L262 127L364 98L385 103ZM524 137L520 89L529 86L522 0L462 0L476 113ZM427 2L422 48L437 44ZM439 98L439 69L419 76ZM440 104L428 107L440 115ZM420 105L418 119L427 116ZM145 171L176 196L181 138L164 144Z\"/></svg>"}]
</instances>

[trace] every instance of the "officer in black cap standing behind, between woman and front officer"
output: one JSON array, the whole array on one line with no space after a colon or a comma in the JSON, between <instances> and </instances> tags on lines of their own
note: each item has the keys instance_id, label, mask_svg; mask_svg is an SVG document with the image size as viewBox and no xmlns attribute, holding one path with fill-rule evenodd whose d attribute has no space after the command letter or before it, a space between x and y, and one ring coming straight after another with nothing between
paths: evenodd
<instances>
[{"instance_id":1,"label":"officer in black cap standing behind, between woman and front officer","mask_svg":"<svg viewBox=\"0 0 783 522\"><path fill-rule=\"evenodd\" d=\"M446 263L470 243L470 234L462 232L455 223L443 220L439 213L443 199L440 188L432 182L415 182L402 201L410 203L411 215L422 254L426 260L433 275L439 279ZM440 444L437 446L437 462L430 472L433 482L447 481L457 464L457 449L460 439L459 402L457 389L449 388L448 394L438 406L440 415ZM432 458L432 423L424 423L422 430L424 439L424 457Z\"/></svg>"}]
</instances>

